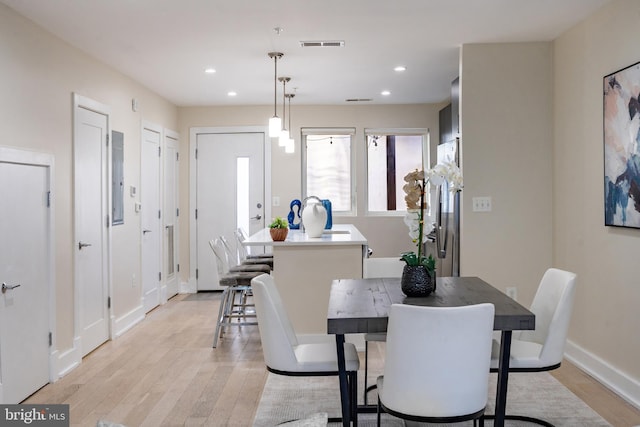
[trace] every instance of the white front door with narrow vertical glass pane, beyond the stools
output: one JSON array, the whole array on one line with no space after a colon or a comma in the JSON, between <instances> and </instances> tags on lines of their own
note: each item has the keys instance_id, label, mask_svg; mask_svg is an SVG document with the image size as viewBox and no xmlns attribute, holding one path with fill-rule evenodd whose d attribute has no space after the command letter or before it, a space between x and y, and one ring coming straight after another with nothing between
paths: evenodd
<instances>
[{"instance_id":1,"label":"white front door with narrow vertical glass pane, beyond the stools","mask_svg":"<svg viewBox=\"0 0 640 427\"><path fill-rule=\"evenodd\" d=\"M209 241L223 235L235 245L238 227L264 227L264 134L198 134L196 145L197 289L218 290Z\"/></svg>"}]
</instances>

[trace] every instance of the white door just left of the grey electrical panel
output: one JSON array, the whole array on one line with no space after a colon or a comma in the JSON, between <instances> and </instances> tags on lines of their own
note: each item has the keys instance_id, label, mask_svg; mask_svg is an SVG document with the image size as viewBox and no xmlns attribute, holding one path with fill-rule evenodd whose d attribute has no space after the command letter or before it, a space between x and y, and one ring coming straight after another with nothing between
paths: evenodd
<instances>
[{"instance_id":1,"label":"white door just left of the grey electrical panel","mask_svg":"<svg viewBox=\"0 0 640 427\"><path fill-rule=\"evenodd\" d=\"M109 339L108 116L74 114L75 271L82 356Z\"/></svg>"}]
</instances>

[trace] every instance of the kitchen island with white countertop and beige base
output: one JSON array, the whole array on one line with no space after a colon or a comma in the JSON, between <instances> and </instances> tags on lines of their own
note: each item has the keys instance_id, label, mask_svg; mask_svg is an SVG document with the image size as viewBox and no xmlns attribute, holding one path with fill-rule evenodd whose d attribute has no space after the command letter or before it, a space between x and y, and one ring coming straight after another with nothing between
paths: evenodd
<instances>
[{"instance_id":1,"label":"kitchen island with white countertop and beige base","mask_svg":"<svg viewBox=\"0 0 640 427\"><path fill-rule=\"evenodd\" d=\"M334 224L321 237L289 230L283 242L264 228L245 246L273 247L273 277L298 334L327 333L329 290L334 279L362 278L367 239L351 224Z\"/></svg>"}]
</instances>

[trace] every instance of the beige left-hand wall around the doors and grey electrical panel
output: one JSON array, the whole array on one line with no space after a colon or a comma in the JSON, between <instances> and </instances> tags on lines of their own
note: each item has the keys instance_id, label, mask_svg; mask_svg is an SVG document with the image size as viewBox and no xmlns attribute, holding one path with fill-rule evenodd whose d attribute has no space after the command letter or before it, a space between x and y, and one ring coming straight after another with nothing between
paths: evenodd
<instances>
[{"instance_id":1,"label":"beige left-hand wall around the doors and grey electrical panel","mask_svg":"<svg viewBox=\"0 0 640 427\"><path fill-rule=\"evenodd\" d=\"M0 4L0 144L53 154L55 189L55 334L59 353L73 350L72 94L111 107L124 133L125 188L140 185L140 129L150 120L177 129L177 108L140 83L69 46ZM131 99L139 100L133 112ZM140 218L125 196L124 225L112 228L112 314L140 304ZM137 286L131 285L133 275ZM61 367L64 369L64 366Z\"/></svg>"}]
</instances>

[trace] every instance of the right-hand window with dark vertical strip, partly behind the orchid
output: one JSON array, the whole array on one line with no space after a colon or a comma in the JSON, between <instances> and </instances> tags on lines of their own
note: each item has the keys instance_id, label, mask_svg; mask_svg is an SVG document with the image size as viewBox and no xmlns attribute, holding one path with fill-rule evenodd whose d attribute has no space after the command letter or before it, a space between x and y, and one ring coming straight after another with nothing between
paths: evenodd
<instances>
[{"instance_id":1,"label":"right-hand window with dark vertical strip, partly behind the orchid","mask_svg":"<svg viewBox=\"0 0 640 427\"><path fill-rule=\"evenodd\" d=\"M404 176L429 165L428 130L365 129L365 138L367 212L405 212Z\"/></svg>"}]
</instances>

